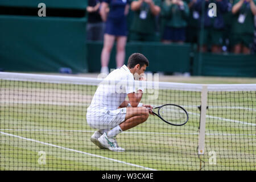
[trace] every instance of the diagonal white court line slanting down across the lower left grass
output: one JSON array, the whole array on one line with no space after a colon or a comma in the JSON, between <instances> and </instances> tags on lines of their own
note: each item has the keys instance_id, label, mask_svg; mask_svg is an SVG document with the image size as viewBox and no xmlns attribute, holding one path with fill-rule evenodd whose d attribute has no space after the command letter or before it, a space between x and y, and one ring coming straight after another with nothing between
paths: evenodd
<instances>
[{"instance_id":1,"label":"diagonal white court line slanting down across the lower left grass","mask_svg":"<svg viewBox=\"0 0 256 182\"><path fill-rule=\"evenodd\" d=\"M45 145L51 146L51 147L61 148L61 149L64 149L64 150L68 150L68 151L72 151L72 152L77 152L77 153L80 153L80 154L86 154L86 155L94 156L96 158L112 160L112 161L117 162L117 163L127 164L128 166L134 166L134 167L139 167L139 168L143 168L143 169L147 169L147 170L151 170L151 171L157 171L156 169L152 169L152 168L148 168L148 167L144 167L144 166L139 166L137 164L131 164L131 163L123 162L121 160L117 160L117 159L106 158L106 157L101 156L101 155L90 154L88 152L82 152L82 151L79 151L79 150L73 150L71 148L61 147L61 146L57 146L57 145L51 144L51 143L40 142L39 140L34 140L34 139L30 139L30 138L20 137L18 135L9 134L9 133L5 133L5 132L2 132L2 131L0 131L0 133L3 134L3 135L8 135L8 136L11 136L11 137L16 137L16 138L20 138L20 139L23 139L23 140L28 140L28 141L31 141L31 142L45 144Z\"/></svg>"}]
</instances>

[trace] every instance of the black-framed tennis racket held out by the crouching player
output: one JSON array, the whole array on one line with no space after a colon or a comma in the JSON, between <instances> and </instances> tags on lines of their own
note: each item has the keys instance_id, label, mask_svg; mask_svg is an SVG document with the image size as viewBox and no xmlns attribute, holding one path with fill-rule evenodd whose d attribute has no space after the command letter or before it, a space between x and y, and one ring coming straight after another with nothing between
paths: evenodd
<instances>
[{"instance_id":1,"label":"black-framed tennis racket held out by the crouching player","mask_svg":"<svg viewBox=\"0 0 256 182\"><path fill-rule=\"evenodd\" d=\"M148 108L148 107L147 107ZM150 109L150 108L148 108ZM158 109L158 112L155 113L153 110ZM162 119L169 125L182 126L188 122L188 113L187 111L176 104L164 104L162 106L154 107L152 113Z\"/></svg>"}]
</instances>

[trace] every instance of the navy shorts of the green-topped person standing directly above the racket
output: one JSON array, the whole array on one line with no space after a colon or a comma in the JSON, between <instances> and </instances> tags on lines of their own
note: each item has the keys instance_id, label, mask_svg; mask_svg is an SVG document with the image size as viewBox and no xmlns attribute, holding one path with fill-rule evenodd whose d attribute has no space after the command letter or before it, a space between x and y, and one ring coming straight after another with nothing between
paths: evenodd
<instances>
[{"instance_id":1,"label":"navy shorts of the green-topped person standing directly above the racket","mask_svg":"<svg viewBox=\"0 0 256 182\"><path fill-rule=\"evenodd\" d=\"M163 40L170 40L173 42L185 41L186 32L185 28L174 28L174 27L165 27L163 32Z\"/></svg>"}]
</instances>

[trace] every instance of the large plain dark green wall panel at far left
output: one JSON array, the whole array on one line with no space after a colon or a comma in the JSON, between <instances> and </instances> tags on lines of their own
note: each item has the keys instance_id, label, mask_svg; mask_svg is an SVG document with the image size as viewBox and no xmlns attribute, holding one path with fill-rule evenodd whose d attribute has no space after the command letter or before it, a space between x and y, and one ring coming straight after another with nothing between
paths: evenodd
<instances>
[{"instance_id":1,"label":"large plain dark green wall panel at far left","mask_svg":"<svg viewBox=\"0 0 256 182\"><path fill-rule=\"evenodd\" d=\"M86 18L0 16L0 68L6 71L87 72Z\"/></svg>"}]
</instances>

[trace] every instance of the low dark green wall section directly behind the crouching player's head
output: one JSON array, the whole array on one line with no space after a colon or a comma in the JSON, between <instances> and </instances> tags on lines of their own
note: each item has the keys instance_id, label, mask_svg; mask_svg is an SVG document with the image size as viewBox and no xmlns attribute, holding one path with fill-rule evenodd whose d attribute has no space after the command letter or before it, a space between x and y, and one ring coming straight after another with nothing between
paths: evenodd
<instances>
[{"instance_id":1,"label":"low dark green wall section directly behind the crouching player's head","mask_svg":"<svg viewBox=\"0 0 256 182\"><path fill-rule=\"evenodd\" d=\"M103 44L101 42L88 42L87 55L89 72L100 72L100 57ZM109 68L115 69L115 48L110 56ZM143 53L150 65L147 71L151 72L189 72L190 67L190 52L191 45L184 44L183 46L176 44L162 44L162 43L127 43L126 44L126 58L134 52ZM97 60L97 61L96 61Z\"/></svg>"}]
</instances>

